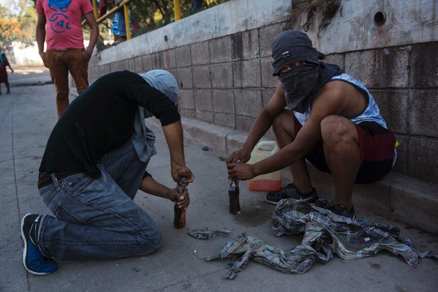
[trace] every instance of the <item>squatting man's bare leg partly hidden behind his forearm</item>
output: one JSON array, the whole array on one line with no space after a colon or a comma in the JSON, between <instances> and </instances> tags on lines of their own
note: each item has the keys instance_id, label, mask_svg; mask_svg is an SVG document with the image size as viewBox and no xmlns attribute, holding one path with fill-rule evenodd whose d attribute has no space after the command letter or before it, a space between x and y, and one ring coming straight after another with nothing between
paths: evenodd
<instances>
[{"instance_id":1,"label":"squatting man's bare leg partly hidden behind his forearm","mask_svg":"<svg viewBox=\"0 0 438 292\"><path fill-rule=\"evenodd\" d=\"M272 128L280 148L294 142L296 135L294 127L295 122L294 112L290 110L283 110L274 118ZM290 166L290 169L296 188L303 193L310 192L312 190L312 185L305 158L293 163Z\"/></svg>"}]
</instances>

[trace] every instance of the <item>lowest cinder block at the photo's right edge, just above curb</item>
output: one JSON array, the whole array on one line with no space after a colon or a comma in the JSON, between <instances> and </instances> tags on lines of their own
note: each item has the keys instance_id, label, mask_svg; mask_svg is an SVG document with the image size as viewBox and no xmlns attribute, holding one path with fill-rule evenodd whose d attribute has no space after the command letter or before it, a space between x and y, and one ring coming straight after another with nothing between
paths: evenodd
<instances>
[{"instance_id":1,"label":"lowest cinder block at the photo's right edge, just above curb","mask_svg":"<svg viewBox=\"0 0 438 292\"><path fill-rule=\"evenodd\" d=\"M438 141L427 137L411 137L409 141L409 175L438 182Z\"/></svg>"}]
</instances>

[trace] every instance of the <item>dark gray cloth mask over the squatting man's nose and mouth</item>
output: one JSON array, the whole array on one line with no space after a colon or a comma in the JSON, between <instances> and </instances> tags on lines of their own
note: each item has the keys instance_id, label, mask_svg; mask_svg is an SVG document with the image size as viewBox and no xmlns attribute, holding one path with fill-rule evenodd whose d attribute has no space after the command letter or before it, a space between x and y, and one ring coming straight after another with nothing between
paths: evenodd
<instances>
[{"instance_id":1,"label":"dark gray cloth mask over the squatting man's nose and mouth","mask_svg":"<svg viewBox=\"0 0 438 292\"><path fill-rule=\"evenodd\" d=\"M285 98L288 108L305 113L314 98L312 90L319 79L319 66L313 63L304 63L289 72L278 73L281 88L285 89Z\"/></svg>"}]
</instances>

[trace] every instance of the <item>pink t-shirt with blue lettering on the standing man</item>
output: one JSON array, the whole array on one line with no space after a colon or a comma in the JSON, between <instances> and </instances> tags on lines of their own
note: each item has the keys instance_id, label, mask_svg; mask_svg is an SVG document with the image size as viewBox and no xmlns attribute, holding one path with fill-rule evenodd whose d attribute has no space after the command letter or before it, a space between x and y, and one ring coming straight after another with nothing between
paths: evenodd
<instances>
[{"instance_id":1,"label":"pink t-shirt with blue lettering on the standing man","mask_svg":"<svg viewBox=\"0 0 438 292\"><path fill-rule=\"evenodd\" d=\"M72 0L67 8L56 8L37 0L37 13L46 16L48 50L83 49L82 15L93 11L89 0Z\"/></svg>"}]
</instances>

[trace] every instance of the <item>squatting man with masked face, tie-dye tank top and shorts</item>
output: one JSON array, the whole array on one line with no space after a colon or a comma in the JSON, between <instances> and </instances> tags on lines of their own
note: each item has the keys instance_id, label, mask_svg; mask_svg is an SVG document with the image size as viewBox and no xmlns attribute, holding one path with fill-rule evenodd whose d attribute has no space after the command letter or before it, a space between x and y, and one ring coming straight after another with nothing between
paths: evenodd
<instances>
[{"instance_id":1,"label":"squatting man with masked face, tie-dye tank top and shorts","mask_svg":"<svg viewBox=\"0 0 438 292\"><path fill-rule=\"evenodd\" d=\"M276 204L293 198L313 203L318 194L307 159L332 174L335 198L326 208L355 219L353 186L377 181L391 171L395 137L366 87L339 66L319 61L325 55L312 47L306 34L284 31L271 49L277 88L242 147L228 157L228 174L247 180L289 166L294 182L268 192L266 201ZM254 165L245 164L271 125L281 150Z\"/></svg>"}]
</instances>

